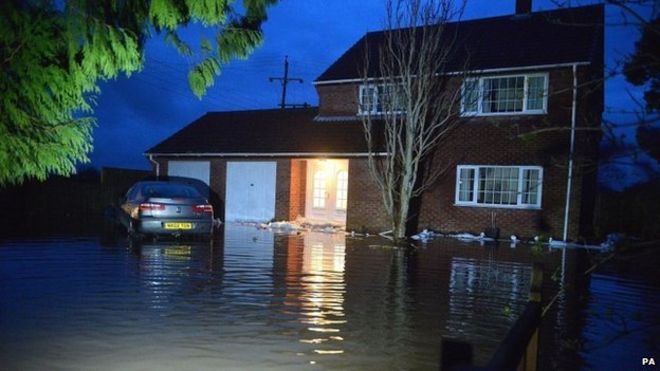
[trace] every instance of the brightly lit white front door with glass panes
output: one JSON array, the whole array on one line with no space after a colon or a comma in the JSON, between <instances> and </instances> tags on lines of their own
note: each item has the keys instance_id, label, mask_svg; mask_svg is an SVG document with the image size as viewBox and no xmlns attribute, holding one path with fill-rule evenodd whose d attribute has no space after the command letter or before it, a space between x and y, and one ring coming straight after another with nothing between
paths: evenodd
<instances>
[{"instance_id":1,"label":"brightly lit white front door with glass panes","mask_svg":"<svg viewBox=\"0 0 660 371\"><path fill-rule=\"evenodd\" d=\"M345 225L347 205L348 160L308 160L305 217Z\"/></svg>"}]
</instances>

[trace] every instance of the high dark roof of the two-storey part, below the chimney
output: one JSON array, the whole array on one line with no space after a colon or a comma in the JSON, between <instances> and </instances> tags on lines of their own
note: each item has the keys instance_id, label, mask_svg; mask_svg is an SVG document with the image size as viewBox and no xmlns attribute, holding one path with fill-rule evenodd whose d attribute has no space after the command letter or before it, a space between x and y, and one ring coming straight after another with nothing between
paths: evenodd
<instances>
[{"instance_id":1,"label":"high dark roof of the two-storey part, below the chimney","mask_svg":"<svg viewBox=\"0 0 660 371\"><path fill-rule=\"evenodd\" d=\"M456 37L445 72L544 66L575 62L602 64L602 4L561 8L445 24L443 38ZM339 57L316 82L361 78L365 47L378 59L385 31L369 32ZM371 63L369 77L378 77Z\"/></svg>"}]
</instances>

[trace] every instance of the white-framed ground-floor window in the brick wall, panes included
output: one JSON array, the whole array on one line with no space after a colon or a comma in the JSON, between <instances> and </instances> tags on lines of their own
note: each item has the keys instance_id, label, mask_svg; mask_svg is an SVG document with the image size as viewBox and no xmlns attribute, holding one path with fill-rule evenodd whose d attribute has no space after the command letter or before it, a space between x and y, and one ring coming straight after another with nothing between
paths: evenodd
<instances>
[{"instance_id":1,"label":"white-framed ground-floor window in the brick wall, panes included","mask_svg":"<svg viewBox=\"0 0 660 371\"><path fill-rule=\"evenodd\" d=\"M540 208L540 166L460 165L456 170L456 204Z\"/></svg>"}]
</instances>

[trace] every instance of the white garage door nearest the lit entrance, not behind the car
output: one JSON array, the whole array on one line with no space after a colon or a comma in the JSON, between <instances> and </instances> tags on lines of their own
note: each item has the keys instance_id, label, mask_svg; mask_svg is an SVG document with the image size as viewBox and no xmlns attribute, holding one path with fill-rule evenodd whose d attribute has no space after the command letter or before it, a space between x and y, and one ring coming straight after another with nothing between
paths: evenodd
<instances>
[{"instance_id":1,"label":"white garage door nearest the lit entrance, not behind the car","mask_svg":"<svg viewBox=\"0 0 660 371\"><path fill-rule=\"evenodd\" d=\"M275 217L275 162L228 162L226 221Z\"/></svg>"}]
</instances>

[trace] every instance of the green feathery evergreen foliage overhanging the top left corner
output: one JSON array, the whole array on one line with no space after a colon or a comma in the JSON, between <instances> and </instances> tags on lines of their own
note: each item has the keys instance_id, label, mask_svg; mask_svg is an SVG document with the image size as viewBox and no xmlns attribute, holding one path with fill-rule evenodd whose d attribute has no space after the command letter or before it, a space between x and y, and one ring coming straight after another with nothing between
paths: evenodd
<instances>
[{"instance_id":1,"label":"green feathery evergreen foliage overhanging the top left corner","mask_svg":"<svg viewBox=\"0 0 660 371\"><path fill-rule=\"evenodd\" d=\"M98 83L139 71L149 37L164 34L177 51L192 55L177 30L192 23L214 28L215 43L202 40L188 78L201 97L223 63L246 58L261 43L266 8L275 2L1 2L0 186L70 175L87 162Z\"/></svg>"}]
</instances>

